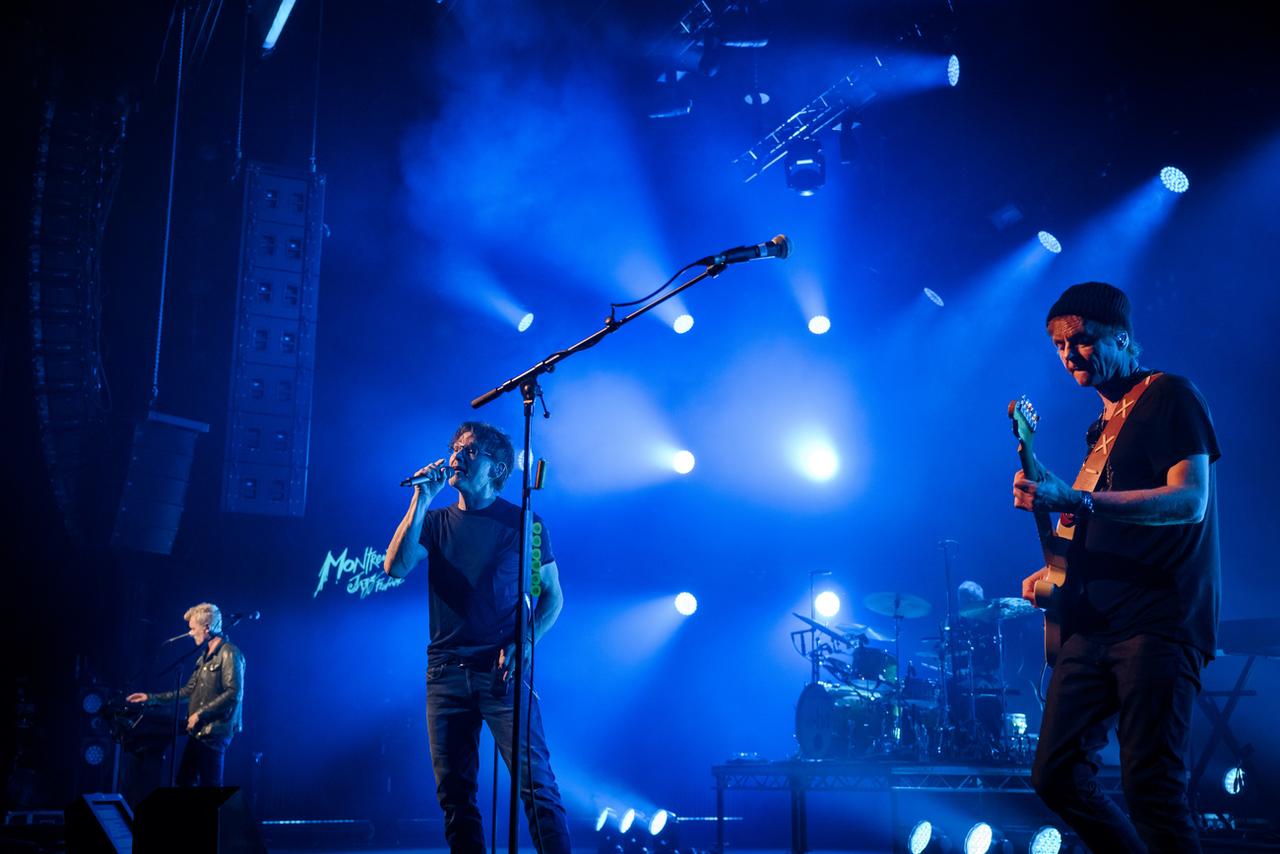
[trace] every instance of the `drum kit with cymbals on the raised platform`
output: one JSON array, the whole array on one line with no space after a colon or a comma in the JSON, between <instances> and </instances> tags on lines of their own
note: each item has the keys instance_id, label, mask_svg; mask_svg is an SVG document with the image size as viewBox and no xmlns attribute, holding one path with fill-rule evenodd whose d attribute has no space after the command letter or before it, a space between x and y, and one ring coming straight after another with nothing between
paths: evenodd
<instances>
[{"instance_id":1,"label":"drum kit with cymbals on the raised platform","mask_svg":"<svg viewBox=\"0 0 1280 854\"><path fill-rule=\"evenodd\" d=\"M867 611L891 617L892 634L864 624L826 625L799 613L796 650L812 679L796 704L796 741L806 759L1029 762L1036 736L1010 712L1018 689L1005 681L1004 626L1034 613L1016 598L959 611L906 662L902 621L932 607L910 593L873 593ZM879 645L878 645L879 644Z\"/></svg>"}]
</instances>

